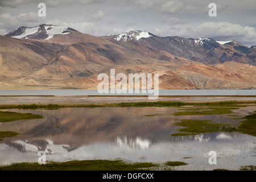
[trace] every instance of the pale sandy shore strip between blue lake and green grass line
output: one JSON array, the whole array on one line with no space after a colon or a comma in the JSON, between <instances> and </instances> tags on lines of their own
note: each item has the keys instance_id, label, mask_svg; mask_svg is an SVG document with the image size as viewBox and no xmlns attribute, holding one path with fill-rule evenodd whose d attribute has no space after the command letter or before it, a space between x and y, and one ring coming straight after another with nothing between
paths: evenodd
<instances>
[{"instance_id":1,"label":"pale sandy shore strip between blue lake and green grass line","mask_svg":"<svg viewBox=\"0 0 256 182\"><path fill-rule=\"evenodd\" d=\"M236 101L243 104L255 103L256 96L159 96L149 100L148 96L0 96L0 106L5 105L109 105L122 102L183 102L183 103L208 103L221 101Z\"/></svg>"}]
</instances>

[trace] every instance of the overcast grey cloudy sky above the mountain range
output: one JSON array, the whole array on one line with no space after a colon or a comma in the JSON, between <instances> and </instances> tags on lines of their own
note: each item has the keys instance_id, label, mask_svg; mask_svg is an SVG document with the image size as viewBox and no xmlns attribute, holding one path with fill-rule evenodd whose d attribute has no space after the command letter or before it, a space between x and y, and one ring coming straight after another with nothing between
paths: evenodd
<instances>
[{"instance_id":1,"label":"overcast grey cloudy sky above the mountain range","mask_svg":"<svg viewBox=\"0 0 256 182\"><path fill-rule=\"evenodd\" d=\"M46 17L38 16L41 2L46 4ZM217 16L208 15L209 3L216 3ZM0 35L42 23L94 36L143 30L256 45L255 0L0 0Z\"/></svg>"}]
</instances>

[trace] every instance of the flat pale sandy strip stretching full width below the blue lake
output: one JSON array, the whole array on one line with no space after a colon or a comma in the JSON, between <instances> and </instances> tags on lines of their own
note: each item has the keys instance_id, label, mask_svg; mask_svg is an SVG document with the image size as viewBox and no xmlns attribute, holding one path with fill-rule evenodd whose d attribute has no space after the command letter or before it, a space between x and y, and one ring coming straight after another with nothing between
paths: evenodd
<instances>
[{"instance_id":1,"label":"flat pale sandy strip stretching full width below the blue lake","mask_svg":"<svg viewBox=\"0 0 256 182\"><path fill-rule=\"evenodd\" d=\"M181 101L181 102L211 102L211 101L256 101L256 97L230 96L171 96L148 100L148 97L115 97L115 96L0 96L0 105L9 104L106 104L120 102L148 101Z\"/></svg>"}]
</instances>

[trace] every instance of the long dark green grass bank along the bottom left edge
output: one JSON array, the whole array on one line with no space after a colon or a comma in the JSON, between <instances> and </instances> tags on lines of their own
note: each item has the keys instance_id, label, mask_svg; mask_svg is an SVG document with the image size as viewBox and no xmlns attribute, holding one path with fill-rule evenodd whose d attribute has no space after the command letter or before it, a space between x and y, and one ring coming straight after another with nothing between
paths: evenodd
<instances>
[{"instance_id":1,"label":"long dark green grass bank along the bottom left edge","mask_svg":"<svg viewBox=\"0 0 256 182\"><path fill-rule=\"evenodd\" d=\"M0 171L142 171L158 166L153 163L125 163L123 160L71 160L68 162L15 163Z\"/></svg>"}]
</instances>

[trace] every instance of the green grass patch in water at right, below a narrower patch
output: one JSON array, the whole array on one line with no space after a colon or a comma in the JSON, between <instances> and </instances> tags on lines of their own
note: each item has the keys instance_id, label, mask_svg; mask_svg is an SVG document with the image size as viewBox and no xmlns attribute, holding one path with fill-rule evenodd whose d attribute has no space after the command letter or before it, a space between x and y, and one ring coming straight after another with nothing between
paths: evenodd
<instances>
[{"instance_id":1,"label":"green grass patch in water at right, below a narrower patch","mask_svg":"<svg viewBox=\"0 0 256 182\"><path fill-rule=\"evenodd\" d=\"M183 126L182 129L179 129L179 132L183 133L171 134L172 137L197 135L201 133L212 133L220 131L237 131L236 127L232 127L230 125L223 125L221 123L209 123L209 120L201 119L182 119L181 122L174 123L174 125Z\"/></svg>"}]
</instances>

